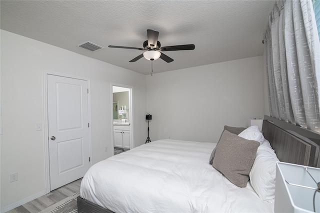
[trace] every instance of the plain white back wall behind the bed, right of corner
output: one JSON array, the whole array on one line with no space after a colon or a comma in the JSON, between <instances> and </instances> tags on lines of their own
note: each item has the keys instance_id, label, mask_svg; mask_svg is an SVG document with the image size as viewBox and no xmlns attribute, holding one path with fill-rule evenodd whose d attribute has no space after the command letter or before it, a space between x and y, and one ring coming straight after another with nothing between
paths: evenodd
<instances>
[{"instance_id":1,"label":"plain white back wall behind the bed, right of corner","mask_svg":"<svg viewBox=\"0 0 320 213\"><path fill-rule=\"evenodd\" d=\"M223 125L247 126L263 117L263 57L146 76L151 141L163 138L217 142Z\"/></svg>"}]
</instances>

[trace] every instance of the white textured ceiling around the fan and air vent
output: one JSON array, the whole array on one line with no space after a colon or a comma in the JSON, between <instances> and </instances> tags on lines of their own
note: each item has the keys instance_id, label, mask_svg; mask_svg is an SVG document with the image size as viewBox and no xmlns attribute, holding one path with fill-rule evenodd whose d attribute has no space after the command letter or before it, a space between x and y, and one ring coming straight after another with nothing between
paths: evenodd
<instances>
[{"instance_id":1,"label":"white textured ceiling around the fan and air vent","mask_svg":"<svg viewBox=\"0 0 320 213\"><path fill-rule=\"evenodd\" d=\"M1 0L1 29L107 63L149 74L142 47L146 29L159 31L161 46L193 43L194 50L166 51L173 62L153 62L153 71L199 66L262 55L262 34L273 0ZM91 41L105 48L78 47Z\"/></svg>"}]
</instances>

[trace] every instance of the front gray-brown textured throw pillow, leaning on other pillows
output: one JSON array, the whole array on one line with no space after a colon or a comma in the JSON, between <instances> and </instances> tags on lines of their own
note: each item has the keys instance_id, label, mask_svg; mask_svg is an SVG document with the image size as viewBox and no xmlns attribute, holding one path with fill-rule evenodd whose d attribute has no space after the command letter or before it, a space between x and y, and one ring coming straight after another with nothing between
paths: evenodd
<instances>
[{"instance_id":1,"label":"front gray-brown textured throw pillow, leaning on other pillows","mask_svg":"<svg viewBox=\"0 0 320 213\"><path fill-rule=\"evenodd\" d=\"M258 141L224 130L216 145L212 166L234 185L245 187L259 145Z\"/></svg>"}]
</instances>

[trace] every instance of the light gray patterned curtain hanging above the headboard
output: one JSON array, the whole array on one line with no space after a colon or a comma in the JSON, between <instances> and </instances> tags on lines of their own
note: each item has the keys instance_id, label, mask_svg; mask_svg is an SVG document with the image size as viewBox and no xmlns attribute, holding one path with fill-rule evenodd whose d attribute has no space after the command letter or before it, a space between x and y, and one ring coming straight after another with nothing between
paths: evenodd
<instances>
[{"instance_id":1,"label":"light gray patterned curtain hanging above the headboard","mask_svg":"<svg viewBox=\"0 0 320 213\"><path fill-rule=\"evenodd\" d=\"M270 115L320 132L320 41L311 0L276 1L264 33Z\"/></svg>"}]
</instances>

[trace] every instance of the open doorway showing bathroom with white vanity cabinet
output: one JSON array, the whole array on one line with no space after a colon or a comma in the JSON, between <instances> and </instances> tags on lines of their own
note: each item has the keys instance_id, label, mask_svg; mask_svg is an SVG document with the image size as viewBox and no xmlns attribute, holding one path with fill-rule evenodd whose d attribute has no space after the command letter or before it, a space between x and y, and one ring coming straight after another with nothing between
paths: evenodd
<instances>
[{"instance_id":1,"label":"open doorway showing bathroom with white vanity cabinet","mask_svg":"<svg viewBox=\"0 0 320 213\"><path fill-rule=\"evenodd\" d=\"M134 147L132 131L132 88L112 84L113 154Z\"/></svg>"}]
</instances>

